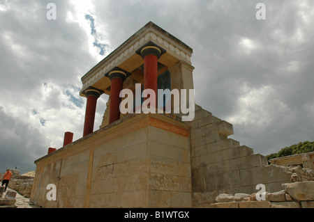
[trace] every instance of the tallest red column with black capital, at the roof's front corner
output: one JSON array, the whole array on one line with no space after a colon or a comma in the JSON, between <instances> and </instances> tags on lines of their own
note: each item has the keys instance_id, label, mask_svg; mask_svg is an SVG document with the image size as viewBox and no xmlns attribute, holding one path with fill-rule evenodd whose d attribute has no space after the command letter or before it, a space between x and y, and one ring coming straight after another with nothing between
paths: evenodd
<instances>
[{"instance_id":1,"label":"tallest red column with black capital, at the roof's front corner","mask_svg":"<svg viewBox=\"0 0 314 222\"><path fill-rule=\"evenodd\" d=\"M147 42L140 49L137 49L136 53L144 59L144 90L154 90L157 101L158 59L165 53L165 49L154 44L154 42Z\"/></svg>"}]
</instances>

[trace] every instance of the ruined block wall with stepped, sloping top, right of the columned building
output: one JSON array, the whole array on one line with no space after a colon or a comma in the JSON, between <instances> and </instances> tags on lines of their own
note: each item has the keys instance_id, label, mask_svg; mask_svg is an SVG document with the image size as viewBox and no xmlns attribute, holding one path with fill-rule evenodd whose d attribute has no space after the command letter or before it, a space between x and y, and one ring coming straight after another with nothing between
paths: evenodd
<instances>
[{"instance_id":1,"label":"ruined block wall with stepped, sloping top, right of the columned building","mask_svg":"<svg viewBox=\"0 0 314 222\"><path fill-rule=\"evenodd\" d=\"M188 123L196 207L213 203L219 193L254 193L257 184L276 191L281 184L290 182L291 173L285 168L269 165L267 157L228 138L233 134L229 122L195 104L195 118Z\"/></svg>"}]
</instances>

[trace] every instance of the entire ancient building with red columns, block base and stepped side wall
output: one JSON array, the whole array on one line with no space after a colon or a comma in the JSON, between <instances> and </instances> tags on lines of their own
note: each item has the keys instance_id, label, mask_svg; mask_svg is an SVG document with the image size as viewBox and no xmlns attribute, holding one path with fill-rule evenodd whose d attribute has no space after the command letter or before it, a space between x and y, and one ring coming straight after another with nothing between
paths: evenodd
<instances>
[{"instance_id":1,"label":"entire ancient building with red columns, block base and stepped side wall","mask_svg":"<svg viewBox=\"0 0 314 222\"><path fill-rule=\"evenodd\" d=\"M174 95L165 96L161 107L150 103L150 113L141 108L145 101L154 101L154 94L121 100L121 90L133 95L147 89L155 95L158 89L178 90L183 97L182 90L193 90L197 78L192 54L184 42L149 22L84 74L83 137L72 141L73 134L66 132L62 148L50 148L35 161L31 200L41 207L217 207L225 193L233 198L232 205L244 207L249 201L237 200L251 200L257 184L277 196L282 184L293 181L292 171L270 165L262 154L228 138L234 133L232 124L194 104L191 94L184 97L187 107L195 108L189 121L170 100ZM110 100L94 132L97 100L104 93ZM126 100L130 112L121 113ZM47 200L50 184L56 200ZM306 205L284 190L278 195ZM255 202L260 207L276 205L270 194L267 198Z\"/></svg>"}]
</instances>

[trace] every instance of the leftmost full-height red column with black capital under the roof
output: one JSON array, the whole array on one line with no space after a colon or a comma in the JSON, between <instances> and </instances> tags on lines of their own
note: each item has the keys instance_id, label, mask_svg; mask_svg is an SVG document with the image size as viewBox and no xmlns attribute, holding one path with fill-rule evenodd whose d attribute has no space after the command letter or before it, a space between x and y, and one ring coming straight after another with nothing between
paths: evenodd
<instances>
[{"instance_id":1,"label":"leftmost full-height red column with black capital under the roof","mask_svg":"<svg viewBox=\"0 0 314 222\"><path fill-rule=\"evenodd\" d=\"M87 97L83 136L87 136L94 131L96 104L103 91L89 87L83 93Z\"/></svg>"}]
</instances>

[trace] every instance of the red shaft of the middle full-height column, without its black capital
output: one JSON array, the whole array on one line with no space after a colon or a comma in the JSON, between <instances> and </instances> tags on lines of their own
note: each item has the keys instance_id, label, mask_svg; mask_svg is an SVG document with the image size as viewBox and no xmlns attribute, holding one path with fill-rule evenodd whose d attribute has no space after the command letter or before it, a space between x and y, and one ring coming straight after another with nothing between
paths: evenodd
<instances>
[{"instance_id":1,"label":"red shaft of the middle full-height column, without its black capital","mask_svg":"<svg viewBox=\"0 0 314 222\"><path fill-rule=\"evenodd\" d=\"M123 84L124 80L121 78L111 80L109 124L120 119L121 97L119 97L119 95Z\"/></svg>"}]
</instances>

